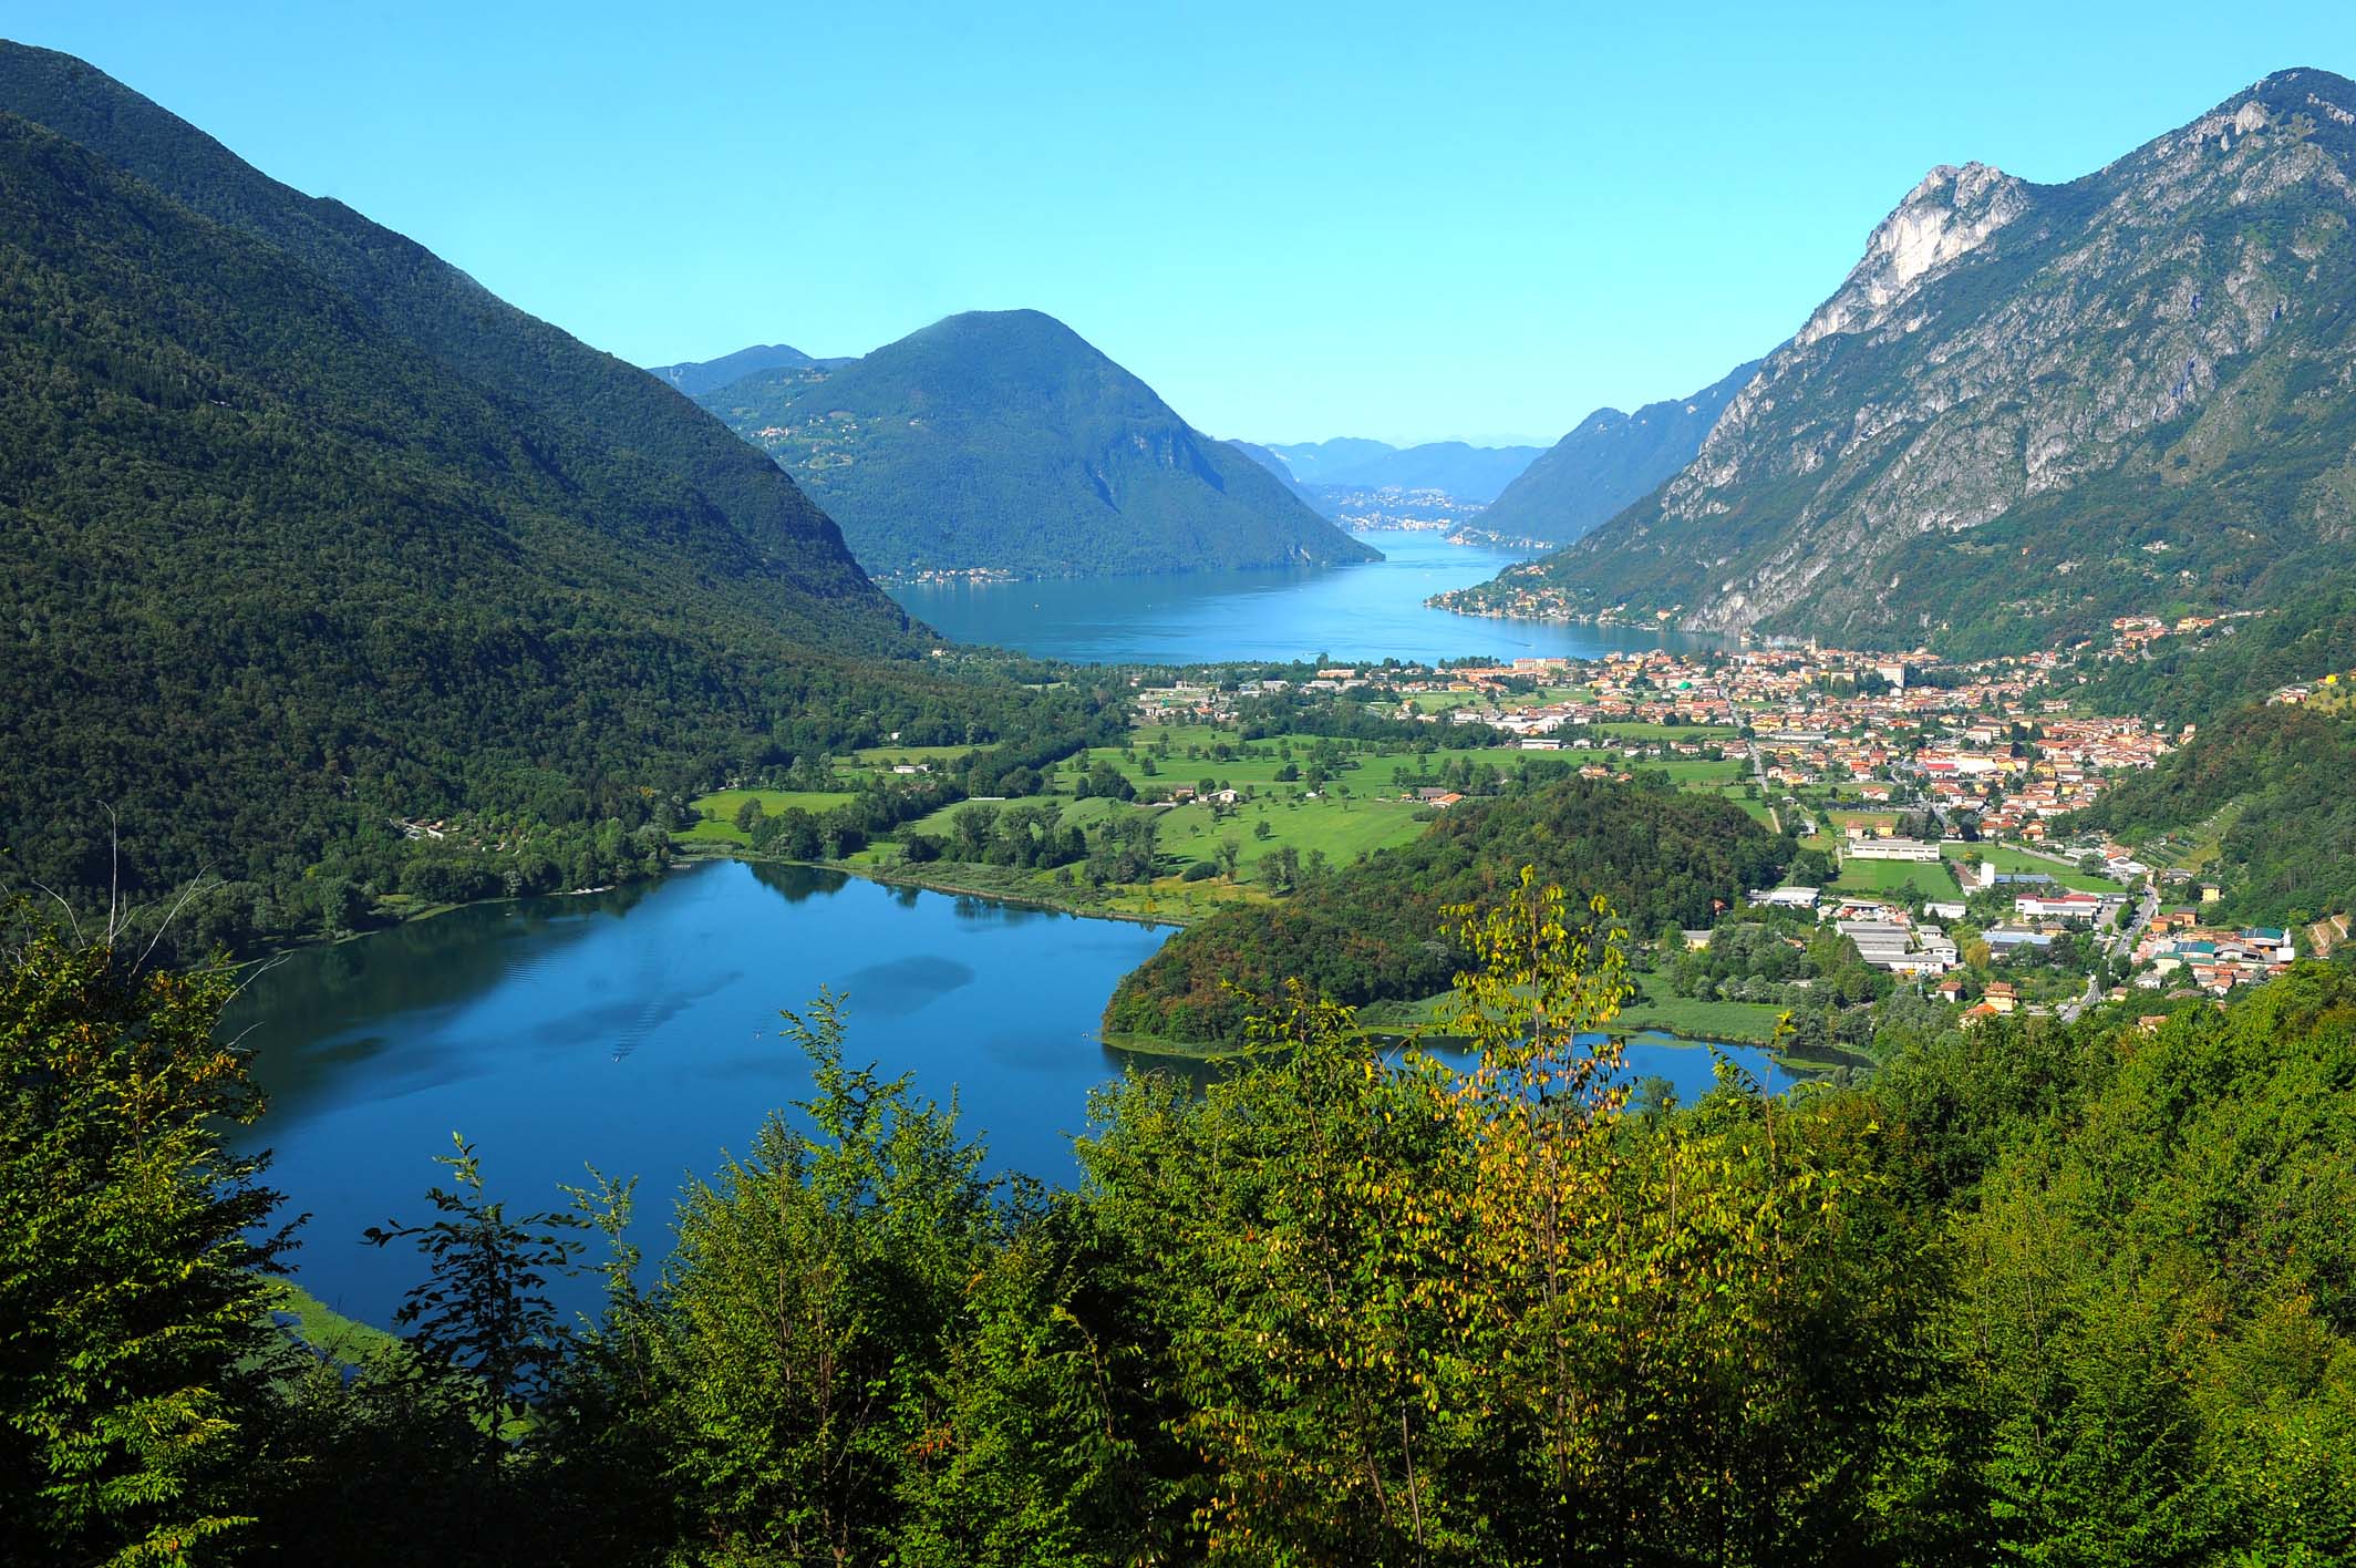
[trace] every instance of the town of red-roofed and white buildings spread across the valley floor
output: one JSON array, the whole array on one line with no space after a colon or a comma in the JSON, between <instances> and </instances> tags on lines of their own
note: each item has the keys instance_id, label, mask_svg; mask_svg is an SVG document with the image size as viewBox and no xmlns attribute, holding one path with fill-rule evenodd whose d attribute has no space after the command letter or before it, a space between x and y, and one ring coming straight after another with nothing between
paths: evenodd
<instances>
[{"instance_id":1,"label":"town of red-roofed and white buildings spread across the valley floor","mask_svg":"<svg viewBox=\"0 0 2356 1568\"><path fill-rule=\"evenodd\" d=\"M2111 630L2106 655L2135 658L2158 634L2198 627L2135 615ZM2080 712L2066 665L2062 653L1946 663L1816 644L1633 648L1593 660L1324 665L1308 679L1239 684L1140 679L1136 696L1140 724L1220 724L1253 693L1352 693L1423 724L1484 724L1527 752L1579 752L1590 778L1680 759L1736 764L1765 818L1821 849L1826 882L1840 884L1751 889L1746 908L1838 929L1868 967L1967 1002L1967 1023L2014 1009L2071 1016L2111 981L2224 995L2288 969L2302 941L2325 953L2347 936L2335 922L2299 934L2215 924L2203 908L2219 889L2198 856L2153 863L2071 830L2071 813L2123 771L2153 766L2193 726L2163 733L2139 717ZM2285 686L2274 700L2340 684ZM1435 809L1461 799L1414 795ZM2033 1002L2021 986L1970 979L2047 957L2057 943L2080 955L2083 995L2054 1000L2045 988L2047 1000Z\"/></svg>"}]
</instances>

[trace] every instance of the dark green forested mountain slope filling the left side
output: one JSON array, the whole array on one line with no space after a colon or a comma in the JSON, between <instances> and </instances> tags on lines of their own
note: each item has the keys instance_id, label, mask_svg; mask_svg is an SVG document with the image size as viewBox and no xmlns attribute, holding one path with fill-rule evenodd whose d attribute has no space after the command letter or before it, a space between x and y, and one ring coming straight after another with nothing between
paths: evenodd
<instances>
[{"instance_id":1,"label":"dark green forested mountain slope filling the left side","mask_svg":"<svg viewBox=\"0 0 2356 1568\"><path fill-rule=\"evenodd\" d=\"M16 45L0 578L0 879L73 894L106 806L132 889L210 865L285 908L320 863L391 891L389 816L620 842L716 759L945 705L924 627L716 420Z\"/></svg>"}]
</instances>

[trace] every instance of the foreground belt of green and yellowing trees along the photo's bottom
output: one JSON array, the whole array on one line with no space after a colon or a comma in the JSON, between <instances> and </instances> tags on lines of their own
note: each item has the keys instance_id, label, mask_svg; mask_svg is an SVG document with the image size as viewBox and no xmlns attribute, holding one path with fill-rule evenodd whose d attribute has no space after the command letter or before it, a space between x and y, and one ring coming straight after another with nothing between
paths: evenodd
<instances>
[{"instance_id":1,"label":"foreground belt of green and yellowing trees along the photo's bottom","mask_svg":"<svg viewBox=\"0 0 2356 1568\"><path fill-rule=\"evenodd\" d=\"M219 1144L259 1113L229 979L19 910L0 1556L2356 1554L2356 974L2156 1030L1925 1016L1866 1087L1633 1108L1581 1045L1607 908L1442 920L1477 1068L1293 995L1206 1092L1110 1085L1072 1191L987 1179L825 1002L780 1042L810 1101L688 1181L664 1259L620 1245L634 1181L509 1195L459 1146L368 1238L417 1261L401 1342L339 1361L273 1320L276 1200Z\"/></svg>"}]
</instances>

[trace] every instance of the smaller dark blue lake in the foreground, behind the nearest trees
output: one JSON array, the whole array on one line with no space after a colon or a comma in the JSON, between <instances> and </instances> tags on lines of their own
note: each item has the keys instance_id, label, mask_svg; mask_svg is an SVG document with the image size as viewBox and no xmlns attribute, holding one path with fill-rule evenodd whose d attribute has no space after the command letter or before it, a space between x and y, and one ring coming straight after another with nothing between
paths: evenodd
<instances>
[{"instance_id":1,"label":"smaller dark blue lake in the foreground, behind the nearest trees","mask_svg":"<svg viewBox=\"0 0 2356 1568\"><path fill-rule=\"evenodd\" d=\"M452 910L257 976L231 1009L271 1096L250 1141L276 1151L287 1214L309 1212L297 1278L330 1306L391 1323L419 1278L405 1247L360 1231L426 1219L434 1155L464 1132L509 1212L561 1207L584 1162L641 1177L634 1240L669 1247L671 1200L770 1108L810 1092L777 1009L848 997L848 1061L954 1092L994 1170L1077 1177L1088 1089L1131 1061L1100 1042L1114 983L1169 929L985 898L888 889L796 865L719 861L580 898ZM1791 1080L1732 1052L1767 1087ZM1187 1066L1187 1063L1176 1063ZM1710 1087L1710 1054L1659 1037L1630 1075L1677 1096ZM1204 1068L1194 1068L1199 1078ZM591 1290L563 1292L591 1304Z\"/></svg>"}]
</instances>

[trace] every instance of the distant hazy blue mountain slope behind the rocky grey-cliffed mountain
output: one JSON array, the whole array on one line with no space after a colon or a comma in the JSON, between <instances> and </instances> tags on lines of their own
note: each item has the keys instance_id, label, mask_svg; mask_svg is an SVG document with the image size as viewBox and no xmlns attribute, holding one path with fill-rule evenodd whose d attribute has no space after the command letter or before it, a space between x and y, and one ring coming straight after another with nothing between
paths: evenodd
<instances>
[{"instance_id":1,"label":"distant hazy blue mountain slope behind the rocky grey-cliffed mountain","mask_svg":"<svg viewBox=\"0 0 2356 1568\"><path fill-rule=\"evenodd\" d=\"M1569 545L1609 521L1694 460L1701 439L1760 363L1736 365L1689 398L1644 403L1635 413L1597 408L1489 502L1482 528L1498 538Z\"/></svg>"}]
</instances>

